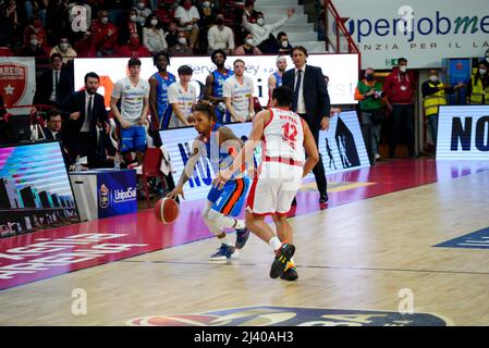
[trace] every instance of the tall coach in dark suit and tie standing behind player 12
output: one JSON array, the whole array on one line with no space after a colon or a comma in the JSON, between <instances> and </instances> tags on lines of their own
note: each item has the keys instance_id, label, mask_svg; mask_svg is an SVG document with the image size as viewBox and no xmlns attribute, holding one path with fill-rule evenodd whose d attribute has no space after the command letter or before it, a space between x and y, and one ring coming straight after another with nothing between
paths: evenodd
<instances>
[{"instance_id":1,"label":"tall coach in dark suit and tie standing behind player 12","mask_svg":"<svg viewBox=\"0 0 489 348\"><path fill-rule=\"evenodd\" d=\"M317 146L319 130L329 129L331 104L322 71L318 66L307 65L307 50L302 46L292 49L291 57L295 69L283 74L282 85L294 91L292 110L307 122ZM316 164L313 173L319 190L319 202L326 203L328 192L322 159Z\"/></svg>"}]
</instances>

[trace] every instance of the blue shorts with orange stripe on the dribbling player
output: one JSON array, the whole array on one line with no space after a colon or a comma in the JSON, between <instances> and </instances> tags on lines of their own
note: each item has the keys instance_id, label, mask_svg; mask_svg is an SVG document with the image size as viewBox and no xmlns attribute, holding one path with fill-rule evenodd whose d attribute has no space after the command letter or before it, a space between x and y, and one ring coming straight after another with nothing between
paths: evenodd
<instances>
[{"instance_id":1,"label":"blue shorts with orange stripe on the dribbling player","mask_svg":"<svg viewBox=\"0 0 489 348\"><path fill-rule=\"evenodd\" d=\"M211 209L228 216L237 216L246 202L249 177L236 178L224 184L222 189L212 187L207 200L212 202Z\"/></svg>"}]
</instances>

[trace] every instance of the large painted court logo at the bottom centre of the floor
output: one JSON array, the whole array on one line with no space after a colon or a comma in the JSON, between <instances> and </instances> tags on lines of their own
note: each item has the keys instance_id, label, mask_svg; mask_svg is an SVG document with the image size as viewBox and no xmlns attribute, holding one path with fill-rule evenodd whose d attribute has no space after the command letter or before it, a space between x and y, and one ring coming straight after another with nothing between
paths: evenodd
<instances>
[{"instance_id":1,"label":"large painted court logo at the bottom centre of the floor","mask_svg":"<svg viewBox=\"0 0 489 348\"><path fill-rule=\"evenodd\" d=\"M131 326L448 326L430 313L256 306L197 314L162 314L132 319Z\"/></svg>"}]
</instances>

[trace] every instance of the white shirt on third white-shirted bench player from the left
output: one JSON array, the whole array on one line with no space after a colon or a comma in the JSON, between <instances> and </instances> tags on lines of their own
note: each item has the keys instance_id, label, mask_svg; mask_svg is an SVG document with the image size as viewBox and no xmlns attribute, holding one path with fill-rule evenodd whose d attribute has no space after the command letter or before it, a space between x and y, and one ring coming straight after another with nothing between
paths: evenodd
<instances>
[{"instance_id":1,"label":"white shirt on third white-shirted bench player from the left","mask_svg":"<svg viewBox=\"0 0 489 348\"><path fill-rule=\"evenodd\" d=\"M231 98L231 104L236 114L247 120L249 115L249 97L253 96L254 89L252 78L243 76L243 84L240 84L236 75L233 75L224 82L222 96Z\"/></svg>"}]
</instances>

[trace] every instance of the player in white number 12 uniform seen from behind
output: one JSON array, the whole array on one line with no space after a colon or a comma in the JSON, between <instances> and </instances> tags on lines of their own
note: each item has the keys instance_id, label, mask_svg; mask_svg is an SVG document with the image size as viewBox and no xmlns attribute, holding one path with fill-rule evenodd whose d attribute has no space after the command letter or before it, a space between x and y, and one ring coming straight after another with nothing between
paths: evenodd
<instances>
[{"instance_id":1,"label":"player in white number 12 uniform seen from behind","mask_svg":"<svg viewBox=\"0 0 489 348\"><path fill-rule=\"evenodd\" d=\"M319 153L307 123L290 110L293 91L285 86L273 90L272 108L260 111L253 121L249 141L228 170L221 171L219 179L228 183L232 173L253 157L256 146L262 141L262 162L253 181L246 208L246 227L268 243L276 251L270 276L294 281L297 271L292 259L295 247L292 228L286 221L292 200L301 182L316 163ZM307 160L305 160L307 154ZM272 215L279 237L265 223Z\"/></svg>"}]
</instances>

